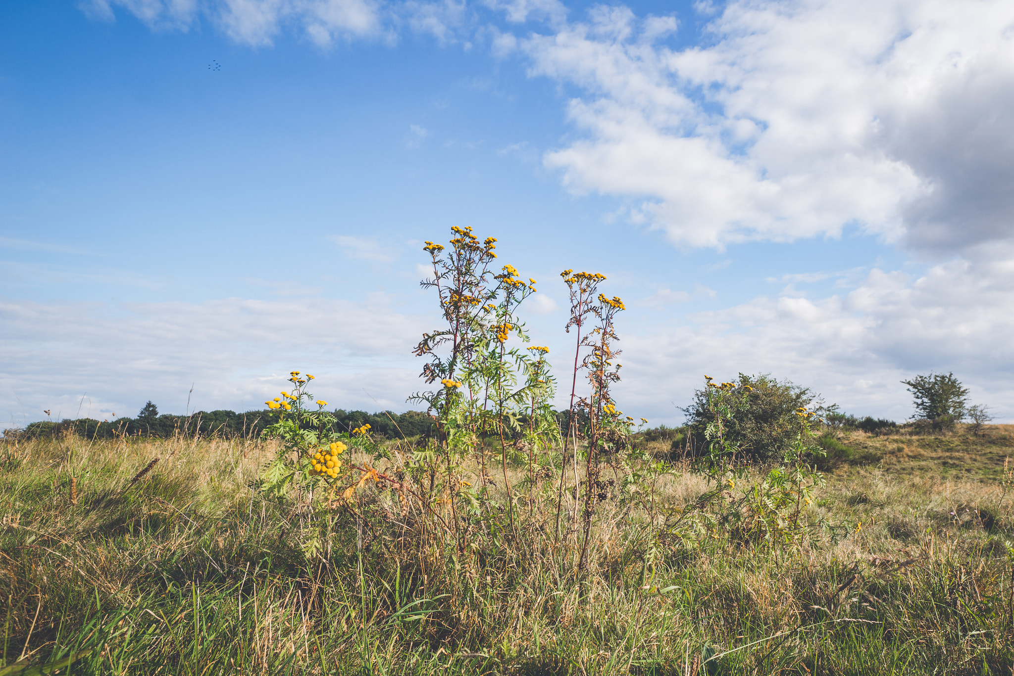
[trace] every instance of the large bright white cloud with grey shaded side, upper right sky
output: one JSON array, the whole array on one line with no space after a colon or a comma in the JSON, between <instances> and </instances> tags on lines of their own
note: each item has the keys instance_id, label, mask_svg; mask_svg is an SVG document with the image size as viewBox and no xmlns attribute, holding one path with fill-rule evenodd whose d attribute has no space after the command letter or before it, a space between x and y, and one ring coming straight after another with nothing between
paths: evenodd
<instances>
[{"instance_id":1,"label":"large bright white cloud with grey shaded side, upper right sky","mask_svg":"<svg viewBox=\"0 0 1014 676\"><path fill-rule=\"evenodd\" d=\"M1011 236L1014 4L732 2L709 45L598 6L523 42L574 85L579 138L546 155L576 191L690 246L836 235L922 250Z\"/></svg>"}]
</instances>

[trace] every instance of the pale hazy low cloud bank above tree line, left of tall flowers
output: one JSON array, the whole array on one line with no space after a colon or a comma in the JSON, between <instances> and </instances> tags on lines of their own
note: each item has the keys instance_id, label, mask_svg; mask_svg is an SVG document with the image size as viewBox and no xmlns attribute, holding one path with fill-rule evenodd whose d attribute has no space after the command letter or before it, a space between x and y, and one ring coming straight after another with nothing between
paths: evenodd
<instances>
[{"instance_id":1,"label":"pale hazy low cloud bank above tree line, left of tall flowers","mask_svg":"<svg viewBox=\"0 0 1014 676\"><path fill-rule=\"evenodd\" d=\"M134 416L258 408L292 369L343 406L404 409L420 387L411 349L424 322L390 309L327 299L205 303L40 303L0 299L4 425L53 416ZM82 397L84 403L81 404Z\"/></svg>"}]
</instances>

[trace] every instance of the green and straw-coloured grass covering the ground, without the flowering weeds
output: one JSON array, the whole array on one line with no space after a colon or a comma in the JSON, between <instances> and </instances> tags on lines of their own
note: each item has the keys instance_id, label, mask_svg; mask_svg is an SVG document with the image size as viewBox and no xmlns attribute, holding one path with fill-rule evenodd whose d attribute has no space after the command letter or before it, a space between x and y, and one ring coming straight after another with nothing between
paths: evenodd
<instances>
[{"instance_id":1,"label":"green and straw-coloured grass covering the ground, without the flowering weeds","mask_svg":"<svg viewBox=\"0 0 1014 676\"><path fill-rule=\"evenodd\" d=\"M1014 426L840 443L788 544L676 537L700 474L619 500L606 468L582 570L580 505L555 534L559 453L508 468L513 529L370 484L306 556L305 501L251 489L271 442L6 440L0 674L1011 674ZM396 475L409 448L389 451ZM503 509L480 460L463 476Z\"/></svg>"}]
</instances>

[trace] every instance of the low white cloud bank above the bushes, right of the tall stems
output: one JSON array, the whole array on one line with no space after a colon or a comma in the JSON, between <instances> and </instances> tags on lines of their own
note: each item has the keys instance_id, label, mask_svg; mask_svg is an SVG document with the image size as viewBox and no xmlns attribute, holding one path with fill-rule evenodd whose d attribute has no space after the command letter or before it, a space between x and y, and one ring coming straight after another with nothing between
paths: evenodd
<instances>
[{"instance_id":1,"label":"low white cloud bank above the bushes, right of the tall stems","mask_svg":"<svg viewBox=\"0 0 1014 676\"><path fill-rule=\"evenodd\" d=\"M630 411L681 416L707 373L772 373L810 386L846 410L904 420L899 381L953 371L971 403L1014 419L1014 262L976 256L912 278L871 271L840 295L791 294L702 312L665 332L624 336L622 400Z\"/></svg>"}]
</instances>

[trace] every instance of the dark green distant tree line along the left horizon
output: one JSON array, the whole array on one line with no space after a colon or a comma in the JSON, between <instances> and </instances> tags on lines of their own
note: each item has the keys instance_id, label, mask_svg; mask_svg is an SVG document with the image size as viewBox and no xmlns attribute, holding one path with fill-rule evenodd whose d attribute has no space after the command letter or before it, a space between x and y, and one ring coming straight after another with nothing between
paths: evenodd
<instances>
[{"instance_id":1,"label":"dark green distant tree line along the left horizon","mask_svg":"<svg viewBox=\"0 0 1014 676\"><path fill-rule=\"evenodd\" d=\"M147 402L137 418L119 418L115 421L97 421L91 418L64 420L59 423L40 421L31 423L19 434L26 437L45 437L73 433L85 439L114 439L117 437L156 437L172 436L193 437L224 437L224 438L257 438L265 428L278 422L282 411L249 410L235 412L232 410L199 410L190 416L159 415L158 407L151 401ZM374 414L365 410L335 411L337 429L341 432L351 432L357 427L369 424L370 431L387 439L417 437L430 432L433 419L418 410L404 414L379 411Z\"/></svg>"}]
</instances>

